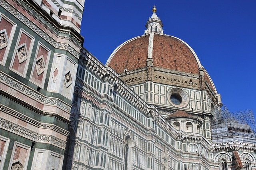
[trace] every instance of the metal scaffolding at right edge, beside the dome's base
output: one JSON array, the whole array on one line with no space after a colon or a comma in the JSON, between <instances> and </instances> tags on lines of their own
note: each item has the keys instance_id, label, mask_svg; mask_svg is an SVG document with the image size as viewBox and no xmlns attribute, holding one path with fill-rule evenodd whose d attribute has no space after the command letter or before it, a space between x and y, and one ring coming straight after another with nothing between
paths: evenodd
<instances>
[{"instance_id":1,"label":"metal scaffolding at right edge, beside the dome's base","mask_svg":"<svg viewBox=\"0 0 256 170\"><path fill-rule=\"evenodd\" d=\"M252 110L231 113L225 106L212 113L212 140L216 142L256 143L256 126Z\"/></svg>"}]
</instances>

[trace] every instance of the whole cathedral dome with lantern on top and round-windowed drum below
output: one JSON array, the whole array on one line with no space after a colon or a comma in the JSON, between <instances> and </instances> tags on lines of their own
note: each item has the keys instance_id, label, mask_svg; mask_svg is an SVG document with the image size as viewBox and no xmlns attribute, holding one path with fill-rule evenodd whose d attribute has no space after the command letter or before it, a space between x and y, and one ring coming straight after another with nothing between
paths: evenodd
<instances>
[{"instance_id":1,"label":"whole cathedral dome with lantern on top and round-windowed drum below","mask_svg":"<svg viewBox=\"0 0 256 170\"><path fill-rule=\"evenodd\" d=\"M214 83L194 50L183 40L164 34L162 21L156 15L155 7L152 11L144 35L119 45L108 58L106 66L114 69L126 85L134 88L149 103L154 103L153 98L156 103L159 102L161 96L155 98L156 94L153 96L153 93L156 91L158 95L159 88L164 86L158 88L158 85L169 85L165 92L161 92L161 95L166 95L167 101L162 98L161 103L170 103L176 108L188 107L190 94L182 90L186 88L206 90L213 103L221 105ZM153 83L156 86L153 87ZM144 86L140 91L135 87L143 84L146 84L145 89L148 91L146 95ZM170 101L172 95L180 99L178 105Z\"/></svg>"}]
</instances>

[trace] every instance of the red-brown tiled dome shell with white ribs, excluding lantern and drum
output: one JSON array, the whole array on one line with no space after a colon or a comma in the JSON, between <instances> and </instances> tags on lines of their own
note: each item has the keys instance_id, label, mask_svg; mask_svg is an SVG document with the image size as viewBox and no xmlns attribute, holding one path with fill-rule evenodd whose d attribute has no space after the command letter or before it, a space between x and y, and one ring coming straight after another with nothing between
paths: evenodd
<instances>
[{"instance_id":1,"label":"red-brown tiled dome shell with white ribs, excluding lantern and drum","mask_svg":"<svg viewBox=\"0 0 256 170\"><path fill-rule=\"evenodd\" d=\"M118 74L147 67L152 59L154 67L199 74L202 67L196 53L184 41L164 34L152 33L132 38L115 49L107 61Z\"/></svg>"}]
</instances>

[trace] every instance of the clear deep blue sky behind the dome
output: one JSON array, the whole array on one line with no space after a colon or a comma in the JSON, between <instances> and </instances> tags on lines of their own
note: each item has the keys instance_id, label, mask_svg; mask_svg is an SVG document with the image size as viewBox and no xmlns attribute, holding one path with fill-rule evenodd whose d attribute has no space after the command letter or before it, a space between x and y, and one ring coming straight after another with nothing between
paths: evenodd
<instances>
[{"instance_id":1,"label":"clear deep blue sky behind the dome","mask_svg":"<svg viewBox=\"0 0 256 170\"><path fill-rule=\"evenodd\" d=\"M84 47L105 64L121 43L144 34L154 5L164 33L194 49L222 103L256 115L256 0L86 0Z\"/></svg>"}]
</instances>

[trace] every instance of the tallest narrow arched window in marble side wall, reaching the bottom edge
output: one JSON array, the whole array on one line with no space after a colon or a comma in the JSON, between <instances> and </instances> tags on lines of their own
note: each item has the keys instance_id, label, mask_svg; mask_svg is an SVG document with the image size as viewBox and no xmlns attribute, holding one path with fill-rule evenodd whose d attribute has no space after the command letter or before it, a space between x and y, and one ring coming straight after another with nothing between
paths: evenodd
<instances>
[{"instance_id":1,"label":"tallest narrow arched window in marble side wall, reaching the bottom edge","mask_svg":"<svg viewBox=\"0 0 256 170\"><path fill-rule=\"evenodd\" d=\"M132 169L132 139L130 136L126 136L125 138L126 144L124 145L124 170Z\"/></svg>"}]
</instances>

